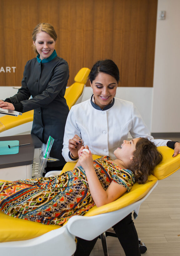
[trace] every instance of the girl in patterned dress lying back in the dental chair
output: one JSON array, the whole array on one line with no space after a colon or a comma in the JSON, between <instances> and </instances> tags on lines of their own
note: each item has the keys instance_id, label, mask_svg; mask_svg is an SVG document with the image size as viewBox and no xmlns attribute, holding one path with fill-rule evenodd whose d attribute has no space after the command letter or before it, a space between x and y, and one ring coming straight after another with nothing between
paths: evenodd
<instances>
[{"instance_id":1,"label":"girl in patterned dress lying back in the dental chair","mask_svg":"<svg viewBox=\"0 0 180 256\"><path fill-rule=\"evenodd\" d=\"M83 149L78 151L73 171L56 177L0 181L1 211L16 218L61 225L95 204L99 207L113 202L135 182L146 182L162 160L157 147L146 138L123 141L114 151L115 160L102 156L93 161L91 152Z\"/></svg>"}]
</instances>

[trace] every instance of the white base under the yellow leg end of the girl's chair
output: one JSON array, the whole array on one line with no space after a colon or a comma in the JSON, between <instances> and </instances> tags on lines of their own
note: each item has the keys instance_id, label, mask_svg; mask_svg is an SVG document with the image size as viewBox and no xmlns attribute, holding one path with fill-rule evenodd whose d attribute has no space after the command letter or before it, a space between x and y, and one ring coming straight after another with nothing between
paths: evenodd
<instances>
[{"instance_id":1,"label":"white base under the yellow leg end of the girl's chair","mask_svg":"<svg viewBox=\"0 0 180 256\"><path fill-rule=\"evenodd\" d=\"M75 237L68 232L66 225L37 238L0 243L2 256L71 256L75 250Z\"/></svg>"}]
</instances>

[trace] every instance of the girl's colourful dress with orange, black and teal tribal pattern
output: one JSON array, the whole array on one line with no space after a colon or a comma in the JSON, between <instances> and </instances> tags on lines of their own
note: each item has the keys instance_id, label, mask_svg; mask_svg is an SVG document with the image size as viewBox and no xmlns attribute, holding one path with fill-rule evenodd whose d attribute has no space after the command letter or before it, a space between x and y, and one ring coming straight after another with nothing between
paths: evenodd
<instances>
[{"instance_id":1,"label":"girl's colourful dress with orange, black and teal tribal pattern","mask_svg":"<svg viewBox=\"0 0 180 256\"><path fill-rule=\"evenodd\" d=\"M133 173L109 161L108 156L94 160L102 187L106 190L113 180L129 191L135 182ZM0 209L12 217L61 225L94 205L82 166L56 177L0 181Z\"/></svg>"}]
</instances>

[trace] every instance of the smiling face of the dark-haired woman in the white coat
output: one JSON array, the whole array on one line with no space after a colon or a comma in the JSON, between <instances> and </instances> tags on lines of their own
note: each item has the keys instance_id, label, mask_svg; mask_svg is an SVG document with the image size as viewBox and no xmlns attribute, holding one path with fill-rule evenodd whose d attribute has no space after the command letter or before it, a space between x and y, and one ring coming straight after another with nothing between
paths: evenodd
<instances>
[{"instance_id":1,"label":"smiling face of the dark-haired woman in the white coat","mask_svg":"<svg viewBox=\"0 0 180 256\"><path fill-rule=\"evenodd\" d=\"M116 89L118 87L116 79L109 74L100 72L90 84L93 89L96 105L101 109L109 105L116 95Z\"/></svg>"}]
</instances>

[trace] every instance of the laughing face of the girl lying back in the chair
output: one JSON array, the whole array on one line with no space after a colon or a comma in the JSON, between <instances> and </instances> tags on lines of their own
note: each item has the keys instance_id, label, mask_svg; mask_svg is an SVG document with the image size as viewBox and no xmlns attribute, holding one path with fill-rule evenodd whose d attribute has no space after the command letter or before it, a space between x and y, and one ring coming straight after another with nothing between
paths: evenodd
<instances>
[{"instance_id":1,"label":"laughing face of the girl lying back in the chair","mask_svg":"<svg viewBox=\"0 0 180 256\"><path fill-rule=\"evenodd\" d=\"M136 150L136 143L139 138L132 139L131 141L123 141L121 148L114 151L114 155L121 160L133 159L133 152Z\"/></svg>"}]
</instances>

